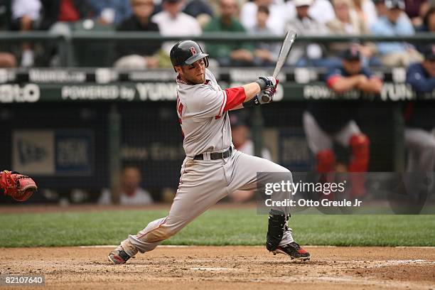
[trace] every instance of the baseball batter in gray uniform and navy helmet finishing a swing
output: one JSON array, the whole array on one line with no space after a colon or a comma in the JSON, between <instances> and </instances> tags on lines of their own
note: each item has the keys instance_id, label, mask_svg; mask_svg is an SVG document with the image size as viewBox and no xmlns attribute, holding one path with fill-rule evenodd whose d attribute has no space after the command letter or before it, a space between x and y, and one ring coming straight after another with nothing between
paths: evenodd
<instances>
[{"instance_id":1,"label":"baseball batter in gray uniform and navy helmet finishing a swing","mask_svg":"<svg viewBox=\"0 0 435 290\"><path fill-rule=\"evenodd\" d=\"M177 75L177 114L184 136L186 159L168 216L149 222L136 235L129 235L109 253L109 261L124 264L137 252L149 252L175 235L193 219L234 190L254 190L257 172L291 173L278 164L243 154L234 149L228 111L263 104L261 96L272 99L277 80L259 77L242 87L222 90L207 69L208 54L198 43L181 41L171 49L171 62ZM287 193L286 193L287 194ZM294 242L287 226L286 207L272 207L266 247L270 252L307 260L310 254Z\"/></svg>"}]
</instances>

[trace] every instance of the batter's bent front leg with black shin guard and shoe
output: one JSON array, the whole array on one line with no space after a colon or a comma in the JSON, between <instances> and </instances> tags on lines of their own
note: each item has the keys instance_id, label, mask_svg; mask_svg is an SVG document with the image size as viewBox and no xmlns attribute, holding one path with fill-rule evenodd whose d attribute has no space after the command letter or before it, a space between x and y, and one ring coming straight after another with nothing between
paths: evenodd
<instances>
[{"instance_id":1,"label":"batter's bent front leg with black shin guard and shoe","mask_svg":"<svg viewBox=\"0 0 435 290\"><path fill-rule=\"evenodd\" d=\"M257 182L279 182L285 178L293 182L291 172L272 161L249 156L240 151L235 151L232 164L229 191L255 190ZM257 176L257 173L262 173ZM258 180L257 178L262 178ZM277 179L278 178L278 179ZM291 198L291 193L286 191L272 193L272 200L285 200ZM290 218L289 206L272 206L269 210L269 222L266 236L266 247L270 252L288 254L292 259L309 259L310 254L302 249L293 240L291 228L288 227Z\"/></svg>"}]
</instances>

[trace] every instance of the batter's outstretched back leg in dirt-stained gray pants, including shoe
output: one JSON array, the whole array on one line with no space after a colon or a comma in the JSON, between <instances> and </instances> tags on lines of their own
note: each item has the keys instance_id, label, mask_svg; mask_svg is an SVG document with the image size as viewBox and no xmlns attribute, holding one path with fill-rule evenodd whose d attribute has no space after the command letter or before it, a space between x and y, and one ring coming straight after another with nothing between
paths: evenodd
<instances>
[{"instance_id":1,"label":"batter's outstretched back leg in dirt-stained gray pants, including shoe","mask_svg":"<svg viewBox=\"0 0 435 290\"><path fill-rule=\"evenodd\" d=\"M149 222L136 235L129 235L109 254L109 260L114 264L123 264L138 251L153 250L224 198L228 191L222 163L222 160L185 161L168 216Z\"/></svg>"}]
</instances>

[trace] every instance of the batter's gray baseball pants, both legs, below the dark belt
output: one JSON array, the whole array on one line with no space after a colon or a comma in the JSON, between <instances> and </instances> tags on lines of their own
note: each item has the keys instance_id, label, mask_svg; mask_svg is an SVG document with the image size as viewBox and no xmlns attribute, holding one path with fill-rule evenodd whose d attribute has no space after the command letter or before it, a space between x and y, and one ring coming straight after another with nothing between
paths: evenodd
<instances>
[{"instance_id":1,"label":"batter's gray baseball pants, both legs, below the dark belt","mask_svg":"<svg viewBox=\"0 0 435 290\"><path fill-rule=\"evenodd\" d=\"M153 250L228 193L234 190L254 190L257 185L257 172L288 173L286 179L293 182L288 169L237 150L234 150L227 159L185 159L181 166L178 190L168 216L150 222L137 235L129 235L127 240L139 249L139 252ZM272 209L289 215L288 207L272 207ZM290 242L293 242L291 230L284 232L279 245Z\"/></svg>"}]
</instances>

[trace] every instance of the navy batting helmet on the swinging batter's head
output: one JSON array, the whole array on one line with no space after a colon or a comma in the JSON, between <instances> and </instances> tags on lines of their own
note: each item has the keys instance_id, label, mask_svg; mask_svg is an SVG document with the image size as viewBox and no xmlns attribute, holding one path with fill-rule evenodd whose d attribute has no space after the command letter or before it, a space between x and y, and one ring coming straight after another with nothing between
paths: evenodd
<instances>
[{"instance_id":1,"label":"navy batting helmet on the swinging batter's head","mask_svg":"<svg viewBox=\"0 0 435 290\"><path fill-rule=\"evenodd\" d=\"M180 41L173 45L171 53L171 63L176 65L191 65L195 61L204 58L205 68L208 67L208 54L195 41Z\"/></svg>"}]
</instances>

